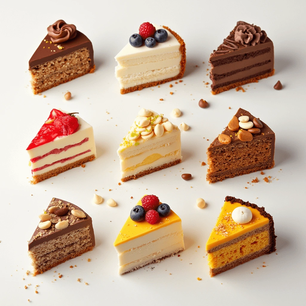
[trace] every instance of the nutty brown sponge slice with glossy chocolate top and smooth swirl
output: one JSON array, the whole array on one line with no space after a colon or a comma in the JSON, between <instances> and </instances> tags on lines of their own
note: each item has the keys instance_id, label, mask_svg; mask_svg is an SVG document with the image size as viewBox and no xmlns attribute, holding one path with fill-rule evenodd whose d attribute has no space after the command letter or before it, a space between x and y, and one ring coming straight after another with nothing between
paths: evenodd
<instances>
[{"instance_id":1,"label":"nutty brown sponge slice with glossy chocolate top and smooth swirl","mask_svg":"<svg viewBox=\"0 0 306 306\"><path fill-rule=\"evenodd\" d=\"M95 71L91 41L75 25L58 20L47 31L29 60L34 94Z\"/></svg>"}]
</instances>

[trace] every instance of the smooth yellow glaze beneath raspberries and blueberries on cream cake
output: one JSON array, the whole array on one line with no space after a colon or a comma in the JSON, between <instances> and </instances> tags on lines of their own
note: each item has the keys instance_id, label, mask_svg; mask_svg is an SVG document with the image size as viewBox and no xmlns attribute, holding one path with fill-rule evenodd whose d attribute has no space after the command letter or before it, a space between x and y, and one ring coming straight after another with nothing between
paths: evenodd
<instances>
[{"instance_id":1,"label":"smooth yellow glaze beneath raspberries and blueberries on cream cake","mask_svg":"<svg viewBox=\"0 0 306 306\"><path fill-rule=\"evenodd\" d=\"M159 203L162 204L161 202ZM136 205L142 206L141 199ZM120 233L118 234L114 242L114 246L116 247L119 244L123 244L127 241L131 241L132 239L136 239L138 237L146 235L147 233L158 230L162 227L181 221L181 218L172 210L170 211L170 214L167 217L160 218L160 222L156 224L150 224L145 220L135 222L129 217L126 220L124 226L122 227Z\"/></svg>"}]
</instances>

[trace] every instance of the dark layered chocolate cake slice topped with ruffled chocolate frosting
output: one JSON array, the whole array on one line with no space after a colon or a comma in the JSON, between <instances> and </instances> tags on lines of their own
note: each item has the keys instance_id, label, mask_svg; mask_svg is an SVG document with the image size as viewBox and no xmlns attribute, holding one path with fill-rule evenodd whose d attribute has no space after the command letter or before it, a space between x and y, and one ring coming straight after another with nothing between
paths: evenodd
<instances>
[{"instance_id":1,"label":"dark layered chocolate cake slice topped with ruffled chocolate frosting","mask_svg":"<svg viewBox=\"0 0 306 306\"><path fill-rule=\"evenodd\" d=\"M265 31L238 21L209 58L211 92L216 95L274 74L274 47Z\"/></svg>"}]
</instances>

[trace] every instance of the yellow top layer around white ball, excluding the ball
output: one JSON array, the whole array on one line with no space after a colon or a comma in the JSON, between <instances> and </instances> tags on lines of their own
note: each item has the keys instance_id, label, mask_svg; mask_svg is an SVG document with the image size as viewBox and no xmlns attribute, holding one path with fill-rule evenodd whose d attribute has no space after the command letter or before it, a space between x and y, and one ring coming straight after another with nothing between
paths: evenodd
<instances>
[{"instance_id":1,"label":"yellow top layer around white ball, excluding the ball","mask_svg":"<svg viewBox=\"0 0 306 306\"><path fill-rule=\"evenodd\" d=\"M216 226L206 243L206 251L269 223L269 219L260 215L257 209L248 207L252 211L252 220L245 224L237 224L233 221L231 213L238 206L245 205L224 202Z\"/></svg>"}]
</instances>

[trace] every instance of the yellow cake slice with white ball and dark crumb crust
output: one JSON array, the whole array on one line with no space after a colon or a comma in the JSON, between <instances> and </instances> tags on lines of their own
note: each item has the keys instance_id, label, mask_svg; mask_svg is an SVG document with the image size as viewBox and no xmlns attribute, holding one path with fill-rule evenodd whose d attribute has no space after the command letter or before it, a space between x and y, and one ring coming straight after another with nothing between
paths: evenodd
<instances>
[{"instance_id":1,"label":"yellow cake slice with white ball and dark crumb crust","mask_svg":"<svg viewBox=\"0 0 306 306\"><path fill-rule=\"evenodd\" d=\"M274 222L264 207L232 196L224 205L206 243L210 276L276 250Z\"/></svg>"}]
</instances>

